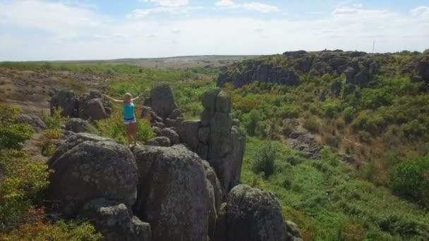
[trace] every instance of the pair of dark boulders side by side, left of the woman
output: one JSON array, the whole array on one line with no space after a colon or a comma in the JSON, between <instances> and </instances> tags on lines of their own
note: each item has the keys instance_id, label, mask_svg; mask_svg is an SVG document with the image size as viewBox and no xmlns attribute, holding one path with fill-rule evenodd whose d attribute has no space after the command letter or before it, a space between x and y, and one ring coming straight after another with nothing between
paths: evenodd
<instances>
[{"instance_id":1,"label":"pair of dark boulders side by side, left of the woman","mask_svg":"<svg viewBox=\"0 0 429 241\"><path fill-rule=\"evenodd\" d=\"M84 120L97 121L109 117L112 106L109 101L102 99L102 94L91 91L81 97L75 97L71 90L60 90L51 98L51 115L54 109L61 107L61 114L72 118L83 118Z\"/></svg>"}]
</instances>

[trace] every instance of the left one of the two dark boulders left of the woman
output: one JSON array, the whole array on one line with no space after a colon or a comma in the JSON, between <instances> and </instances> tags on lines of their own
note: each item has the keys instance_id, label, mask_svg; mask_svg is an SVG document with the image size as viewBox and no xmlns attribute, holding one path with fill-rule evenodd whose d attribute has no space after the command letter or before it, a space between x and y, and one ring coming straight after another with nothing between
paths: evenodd
<instances>
[{"instance_id":1,"label":"left one of the two dark boulders left of the woman","mask_svg":"<svg viewBox=\"0 0 429 241\"><path fill-rule=\"evenodd\" d=\"M75 97L73 90L61 89L56 95L51 98L49 109L51 116L54 110L61 108L62 116L78 117L79 101Z\"/></svg>"}]
</instances>

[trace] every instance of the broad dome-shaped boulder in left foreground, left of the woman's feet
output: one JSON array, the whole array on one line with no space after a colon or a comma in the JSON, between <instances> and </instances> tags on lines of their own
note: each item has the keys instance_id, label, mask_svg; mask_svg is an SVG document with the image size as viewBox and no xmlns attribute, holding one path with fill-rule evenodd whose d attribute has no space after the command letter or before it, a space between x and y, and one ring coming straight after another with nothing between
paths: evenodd
<instances>
[{"instance_id":1,"label":"broad dome-shaped boulder in left foreground, left of the woman's feet","mask_svg":"<svg viewBox=\"0 0 429 241\"><path fill-rule=\"evenodd\" d=\"M54 172L49 175L48 198L58 200L62 213L71 217L92 199L112 199L131 207L137 185L131 151L113 140L77 136L69 137L54 154L58 157L49 160Z\"/></svg>"}]
</instances>

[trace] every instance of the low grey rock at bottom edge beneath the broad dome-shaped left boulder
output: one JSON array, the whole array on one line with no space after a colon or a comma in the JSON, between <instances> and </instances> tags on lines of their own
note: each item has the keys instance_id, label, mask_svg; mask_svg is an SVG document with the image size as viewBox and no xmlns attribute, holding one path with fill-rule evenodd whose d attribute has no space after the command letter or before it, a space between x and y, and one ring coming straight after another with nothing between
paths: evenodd
<instances>
[{"instance_id":1,"label":"low grey rock at bottom edge beneath the broad dome-shaped left boulder","mask_svg":"<svg viewBox=\"0 0 429 241\"><path fill-rule=\"evenodd\" d=\"M78 218L94 225L103 240L151 241L150 224L131 213L125 204L101 198L83 205Z\"/></svg>"}]
</instances>

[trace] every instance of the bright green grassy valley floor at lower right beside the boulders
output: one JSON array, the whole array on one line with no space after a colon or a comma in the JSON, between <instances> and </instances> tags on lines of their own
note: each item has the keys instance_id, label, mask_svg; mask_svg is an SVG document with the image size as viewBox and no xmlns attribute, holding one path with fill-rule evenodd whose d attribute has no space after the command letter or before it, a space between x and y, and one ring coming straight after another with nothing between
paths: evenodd
<instances>
[{"instance_id":1,"label":"bright green grassy valley floor at lower right beside the boulders","mask_svg":"<svg viewBox=\"0 0 429 241\"><path fill-rule=\"evenodd\" d=\"M335 166L326 159L304 159L276 142L274 174L265 179L253 173L253 159L265 142L248 138L241 180L273 192L282 202L285 218L298 224L305 240L429 238L429 215L423 209L357 178L343 163ZM361 237L352 237L359 230Z\"/></svg>"}]
</instances>

